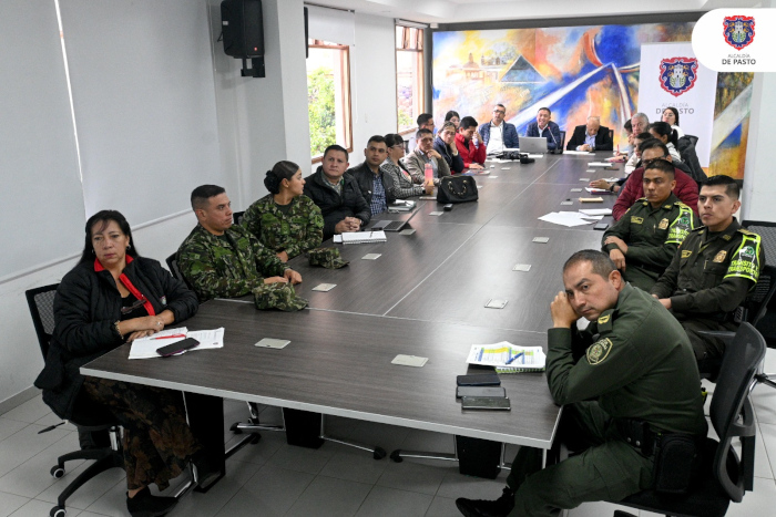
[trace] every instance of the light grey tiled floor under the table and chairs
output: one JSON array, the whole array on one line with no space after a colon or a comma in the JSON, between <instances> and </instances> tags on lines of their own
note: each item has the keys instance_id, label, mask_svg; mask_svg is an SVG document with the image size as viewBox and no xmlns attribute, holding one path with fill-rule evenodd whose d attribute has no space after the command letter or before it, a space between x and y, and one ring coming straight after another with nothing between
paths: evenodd
<instances>
[{"instance_id":1,"label":"light grey tiled floor under the table and chairs","mask_svg":"<svg viewBox=\"0 0 776 517\"><path fill-rule=\"evenodd\" d=\"M766 356L766 371L776 372L776 353L772 350ZM758 386L754 402L759 426L757 478L754 492L747 493L742 504L731 505L729 516L773 515L776 507L776 390ZM227 423L247 416L243 403L228 402L225 411ZM273 407L262 413L266 422L278 417ZM0 415L0 517L48 516L61 487L85 467L68 465L68 474L59 480L49 475L57 456L78 445L70 425L37 434L58 422L40 396ZM327 418L327 432L378 444L389 452L452 452L450 436L404 427ZM458 516L456 497L496 498L506 477L504 473L496 480L462 476L449 462L375 461L369 453L334 443L317 451L303 449L287 445L285 435L276 432L262 433L258 444L229 458L227 472L207 494L185 496L170 516ZM122 471L103 473L68 502L68 517L127 516L125 489ZM568 515L611 516L616 508L605 503L586 504Z\"/></svg>"}]
</instances>

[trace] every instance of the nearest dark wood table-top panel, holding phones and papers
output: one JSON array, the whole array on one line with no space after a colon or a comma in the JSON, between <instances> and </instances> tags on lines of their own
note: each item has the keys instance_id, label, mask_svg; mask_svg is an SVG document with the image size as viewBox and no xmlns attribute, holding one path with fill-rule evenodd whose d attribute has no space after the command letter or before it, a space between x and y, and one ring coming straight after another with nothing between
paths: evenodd
<instances>
[{"instance_id":1,"label":"nearest dark wood table-top panel, holding phones and papers","mask_svg":"<svg viewBox=\"0 0 776 517\"><path fill-rule=\"evenodd\" d=\"M456 376L467 373L471 344L545 345L542 334L319 310L259 312L222 300L204 303L185 324L225 327L224 348L130 361L124 345L82 372L498 442L552 443L560 409L543 373L502 375L510 412L464 412L456 400ZM254 347L262 338L292 342L282 350ZM391 364L400 353L429 361L423 368Z\"/></svg>"}]
</instances>

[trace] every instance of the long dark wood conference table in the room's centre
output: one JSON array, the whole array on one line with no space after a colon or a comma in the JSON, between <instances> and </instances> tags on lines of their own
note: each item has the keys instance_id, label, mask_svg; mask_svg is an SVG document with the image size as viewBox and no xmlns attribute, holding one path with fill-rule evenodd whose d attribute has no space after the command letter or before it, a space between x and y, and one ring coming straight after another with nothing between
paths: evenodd
<instances>
[{"instance_id":1,"label":"long dark wood conference table in the room's centre","mask_svg":"<svg viewBox=\"0 0 776 517\"><path fill-rule=\"evenodd\" d=\"M462 411L456 376L474 371L467 364L472 344L509 341L547 350L549 304L563 289L562 265L574 251L599 249L602 232L593 229L595 221L564 227L538 217L611 208L611 195L601 203L579 200L590 196L584 192L588 182L622 174L621 164L620 170L586 172L589 162L607 156L487 163L490 174L473 176L481 187L478 201L431 215L442 205L418 200L409 214L372 217L406 220L411 235L387 232L385 242L361 245L327 242L349 261L345 268L313 267L302 256L290 260L304 279L296 291L309 301L306 310L257 311L249 297L211 300L183 324L190 330L224 327L224 348L127 360L124 345L81 372L210 401L256 402L548 449L561 409L550 396L544 373L501 375L512 403L503 412ZM549 240L535 242L534 237ZM365 259L368 254L379 257ZM530 268L513 270L519 263ZM336 287L313 291L320 283ZM490 299L508 302L503 309L486 308ZM255 347L263 338L290 343L282 350ZM391 364L398 354L428 362L422 368ZM219 427L222 434L211 436L212 444L223 444L223 423Z\"/></svg>"}]
</instances>

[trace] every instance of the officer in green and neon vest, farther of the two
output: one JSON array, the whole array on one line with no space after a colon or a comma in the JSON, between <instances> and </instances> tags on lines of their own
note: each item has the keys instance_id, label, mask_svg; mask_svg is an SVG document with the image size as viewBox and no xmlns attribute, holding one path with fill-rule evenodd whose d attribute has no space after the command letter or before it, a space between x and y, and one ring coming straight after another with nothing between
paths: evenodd
<instances>
[{"instance_id":1,"label":"officer in green and neon vest, farther of the two","mask_svg":"<svg viewBox=\"0 0 776 517\"><path fill-rule=\"evenodd\" d=\"M644 169L644 197L603 235L609 254L625 280L649 291L671 263L690 230L700 226L693 210L672 192L674 165L665 159Z\"/></svg>"}]
</instances>

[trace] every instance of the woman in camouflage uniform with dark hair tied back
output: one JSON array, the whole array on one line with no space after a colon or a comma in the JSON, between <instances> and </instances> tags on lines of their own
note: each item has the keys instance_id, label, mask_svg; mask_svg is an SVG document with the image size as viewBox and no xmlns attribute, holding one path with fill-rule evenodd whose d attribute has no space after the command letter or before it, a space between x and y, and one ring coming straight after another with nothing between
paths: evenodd
<instances>
[{"instance_id":1,"label":"woman in camouflage uniform with dark hair tied back","mask_svg":"<svg viewBox=\"0 0 776 517\"><path fill-rule=\"evenodd\" d=\"M299 166L278 162L267 170L264 186L269 194L245 210L241 225L284 262L320 246L324 216L303 194L305 180Z\"/></svg>"}]
</instances>

